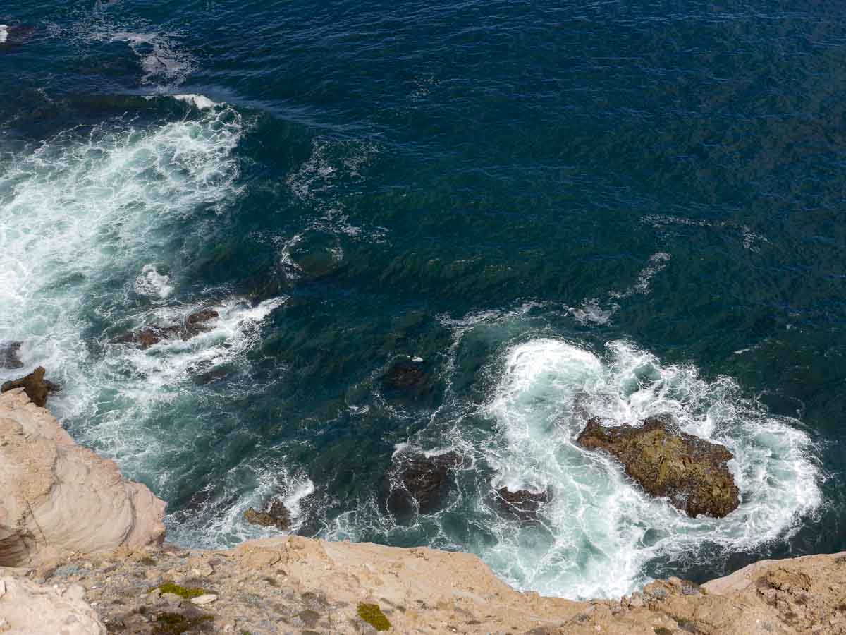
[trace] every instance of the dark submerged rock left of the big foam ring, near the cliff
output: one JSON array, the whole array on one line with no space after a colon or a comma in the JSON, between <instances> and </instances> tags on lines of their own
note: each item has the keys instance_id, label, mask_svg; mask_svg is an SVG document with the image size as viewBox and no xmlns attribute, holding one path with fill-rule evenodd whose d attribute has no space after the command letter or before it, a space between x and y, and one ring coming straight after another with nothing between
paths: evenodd
<instances>
[{"instance_id":1,"label":"dark submerged rock left of the big foam ring, near the cliff","mask_svg":"<svg viewBox=\"0 0 846 635\"><path fill-rule=\"evenodd\" d=\"M387 498L387 508L394 513L408 511L417 501L421 514L429 513L441 502L451 469L461 465L461 457L454 452L438 456L411 456L389 479L393 487ZM392 478L393 477L393 478Z\"/></svg>"}]
</instances>

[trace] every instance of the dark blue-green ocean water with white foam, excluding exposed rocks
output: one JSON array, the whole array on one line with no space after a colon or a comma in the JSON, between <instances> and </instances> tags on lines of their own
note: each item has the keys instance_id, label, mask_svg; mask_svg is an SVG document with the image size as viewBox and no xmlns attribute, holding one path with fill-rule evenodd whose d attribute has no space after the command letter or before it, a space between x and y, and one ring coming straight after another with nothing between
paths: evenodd
<instances>
[{"instance_id":1,"label":"dark blue-green ocean water with white foam, excluding exposed rocks","mask_svg":"<svg viewBox=\"0 0 846 635\"><path fill-rule=\"evenodd\" d=\"M0 342L169 539L480 555L618 597L846 549L846 5L7 0ZM213 307L211 329L117 342ZM387 380L415 369L412 385ZM741 504L580 450L671 412ZM394 515L405 456L462 457ZM499 487L547 490L539 522Z\"/></svg>"}]
</instances>

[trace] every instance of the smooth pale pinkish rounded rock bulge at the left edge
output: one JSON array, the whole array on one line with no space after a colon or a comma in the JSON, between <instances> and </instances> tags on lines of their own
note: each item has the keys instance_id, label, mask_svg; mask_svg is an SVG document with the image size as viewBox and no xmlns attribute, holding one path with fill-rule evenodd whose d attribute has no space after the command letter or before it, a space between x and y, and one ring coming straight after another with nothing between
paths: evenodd
<instances>
[{"instance_id":1,"label":"smooth pale pinkish rounded rock bulge at the left edge","mask_svg":"<svg viewBox=\"0 0 846 635\"><path fill-rule=\"evenodd\" d=\"M75 444L25 389L0 395L0 566L34 566L164 538L164 503Z\"/></svg>"}]
</instances>

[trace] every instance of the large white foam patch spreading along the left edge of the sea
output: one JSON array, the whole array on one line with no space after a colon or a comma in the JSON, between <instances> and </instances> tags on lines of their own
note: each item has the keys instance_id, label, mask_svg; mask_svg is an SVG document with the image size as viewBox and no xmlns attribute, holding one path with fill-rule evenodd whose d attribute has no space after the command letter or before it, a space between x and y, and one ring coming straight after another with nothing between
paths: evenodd
<instances>
[{"instance_id":1,"label":"large white foam patch spreading along the left edge of the sea","mask_svg":"<svg viewBox=\"0 0 846 635\"><path fill-rule=\"evenodd\" d=\"M145 461L162 450L161 435L146 429L151 409L179 395L188 369L238 358L283 302L250 306L213 294L220 317L209 332L149 351L102 334L114 320L132 326L127 290L153 300L137 306L136 323L168 323L206 306L173 304L178 282L164 272L176 254L166 246L188 219L201 238L238 195L232 151L243 131L229 107L145 128L114 121L58 135L0 169L0 338L25 341L28 365L44 365L64 384L53 410L93 426L80 439L130 475L145 474Z\"/></svg>"}]
</instances>

